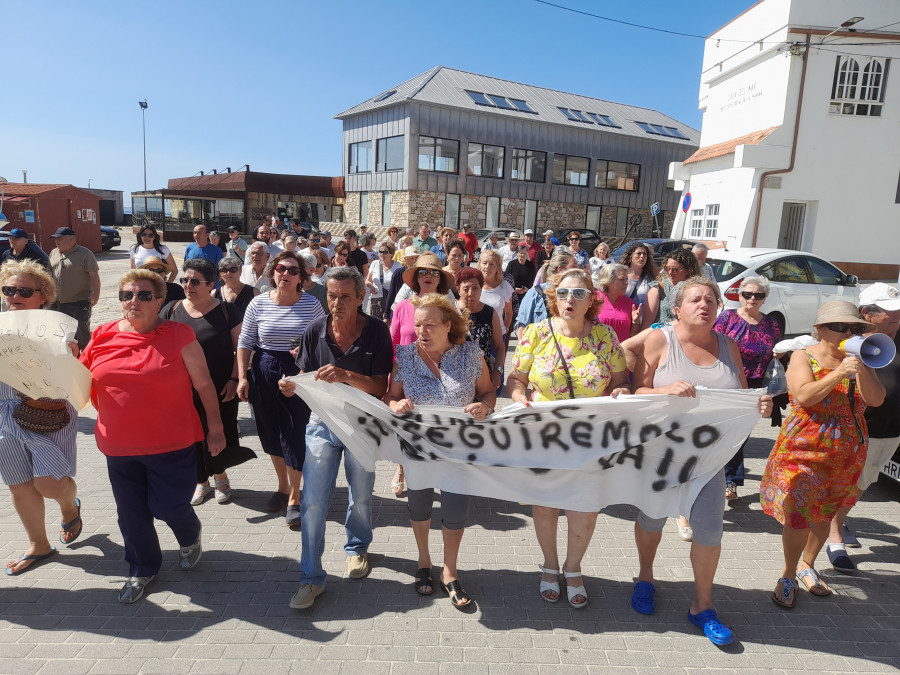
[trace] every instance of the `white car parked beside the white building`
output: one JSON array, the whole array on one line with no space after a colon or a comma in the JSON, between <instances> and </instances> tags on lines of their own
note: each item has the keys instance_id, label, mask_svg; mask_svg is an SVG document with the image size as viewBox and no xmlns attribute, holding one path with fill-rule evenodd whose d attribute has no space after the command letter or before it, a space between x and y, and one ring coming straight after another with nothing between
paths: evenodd
<instances>
[{"instance_id":1,"label":"white car parked beside the white building","mask_svg":"<svg viewBox=\"0 0 900 675\"><path fill-rule=\"evenodd\" d=\"M738 287L745 277L765 277L771 290L762 311L782 335L809 333L819 307L832 300L857 304L859 280L827 260L803 251L779 248L712 250L707 261L722 291L725 309L741 306Z\"/></svg>"}]
</instances>

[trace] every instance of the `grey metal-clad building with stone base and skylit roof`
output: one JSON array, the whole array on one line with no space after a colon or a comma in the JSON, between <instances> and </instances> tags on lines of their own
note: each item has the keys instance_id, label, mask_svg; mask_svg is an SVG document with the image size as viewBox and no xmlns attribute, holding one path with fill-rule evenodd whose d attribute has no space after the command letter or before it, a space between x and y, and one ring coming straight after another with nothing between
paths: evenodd
<instances>
[{"instance_id":1,"label":"grey metal-clad building with stone base and skylit roof","mask_svg":"<svg viewBox=\"0 0 900 675\"><path fill-rule=\"evenodd\" d=\"M697 130L656 110L438 66L337 115L346 219L473 229L668 231L670 162ZM640 216L636 218L635 216Z\"/></svg>"}]
</instances>

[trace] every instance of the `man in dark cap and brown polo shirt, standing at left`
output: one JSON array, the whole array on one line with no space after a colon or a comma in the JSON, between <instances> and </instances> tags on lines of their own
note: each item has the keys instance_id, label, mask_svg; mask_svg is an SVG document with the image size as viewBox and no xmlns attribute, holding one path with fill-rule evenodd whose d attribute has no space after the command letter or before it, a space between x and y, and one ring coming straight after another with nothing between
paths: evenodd
<instances>
[{"instance_id":1,"label":"man in dark cap and brown polo shirt, standing at left","mask_svg":"<svg viewBox=\"0 0 900 675\"><path fill-rule=\"evenodd\" d=\"M84 349L91 339L91 308L100 299L100 266L93 253L75 243L71 227L61 227L50 236L56 242L49 259L57 293L51 309L78 322L75 341Z\"/></svg>"}]
</instances>

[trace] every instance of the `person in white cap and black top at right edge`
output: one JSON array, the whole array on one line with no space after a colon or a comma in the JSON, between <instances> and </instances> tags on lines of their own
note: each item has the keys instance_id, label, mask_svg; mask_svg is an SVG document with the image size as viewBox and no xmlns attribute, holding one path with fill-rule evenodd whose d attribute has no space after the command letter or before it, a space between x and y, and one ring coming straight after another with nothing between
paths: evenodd
<instances>
[{"instance_id":1,"label":"person in white cap and black top at right edge","mask_svg":"<svg viewBox=\"0 0 900 675\"><path fill-rule=\"evenodd\" d=\"M888 284L872 284L859 294L859 315L865 321L875 324L875 332L883 333L894 341L900 352L900 291ZM856 487L864 492L878 480L881 467L887 464L900 447L900 354L884 368L877 368L875 374L884 385L884 403L877 408L866 408L866 426L869 429L869 450ZM849 508L838 509L831 521L828 537L828 559L839 572L856 569L847 547L858 548L859 541L844 525Z\"/></svg>"}]
</instances>

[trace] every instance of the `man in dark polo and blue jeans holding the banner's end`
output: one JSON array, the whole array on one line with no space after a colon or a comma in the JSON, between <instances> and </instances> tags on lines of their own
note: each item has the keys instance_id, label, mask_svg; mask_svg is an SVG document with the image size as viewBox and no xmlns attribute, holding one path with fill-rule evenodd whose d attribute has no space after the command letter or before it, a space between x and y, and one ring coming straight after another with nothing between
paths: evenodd
<instances>
[{"instance_id":1,"label":"man in dark polo and blue jeans holding the banner's end","mask_svg":"<svg viewBox=\"0 0 900 675\"><path fill-rule=\"evenodd\" d=\"M381 398L387 390L393 366L393 348L388 327L360 312L366 286L353 267L333 267L323 279L331 314L306 327L297 354L300 372L315 372L317 380L343 382ZM294 395L293 382L279 382L285 396ZM375 472L364 469L347 452L331 430L315 414L306 427L306 459L303 463L303 499L300 502L303 532L300 557L300 588L291 598L293 609L312 607L325 591L325 523L334 493L338 468L344 458L344 473L350 487L347 507L347 576L362 579L369 574L369 544L372 543L372 490Z\"/></svg>"}]
</instances>

